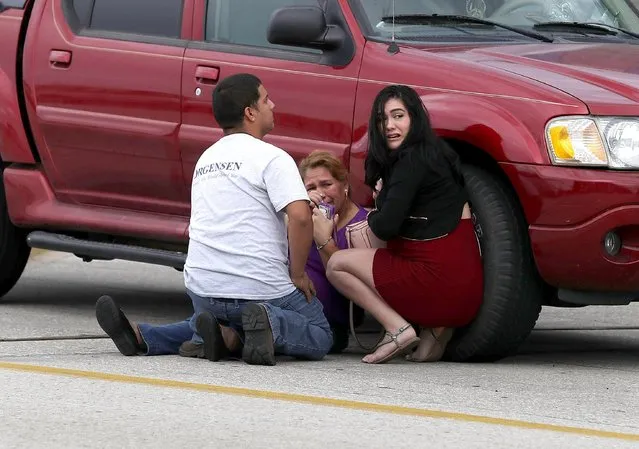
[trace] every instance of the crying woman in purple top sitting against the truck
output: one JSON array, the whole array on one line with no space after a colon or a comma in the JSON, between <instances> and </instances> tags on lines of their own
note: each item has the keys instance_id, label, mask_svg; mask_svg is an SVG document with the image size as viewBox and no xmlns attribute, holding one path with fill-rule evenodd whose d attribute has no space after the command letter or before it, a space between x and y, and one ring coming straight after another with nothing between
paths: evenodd
<instances>
[{"instance_id":1,"label":"crying woman in purple top sitting against the truck","mask_svg":"<svg viewBox=\"0 0 639 449\"><path fill-rule=\"evenodd\" d=\"M314 151L300 162L299 168L313 208L315 245L306 262L306 273L313 281L317 298L333 329L331 352L341 352L348 346L349 301L326 278L326 264L333 253L348 247L346 225L364 220L368 211L351 200L348 171L333 154ZM320 205L327 205L334 216L326 218ZM358 325L364 311L356 307L354 312L355 325Z\"/></svg>"}]
</instances>

